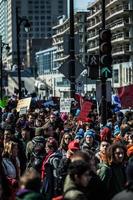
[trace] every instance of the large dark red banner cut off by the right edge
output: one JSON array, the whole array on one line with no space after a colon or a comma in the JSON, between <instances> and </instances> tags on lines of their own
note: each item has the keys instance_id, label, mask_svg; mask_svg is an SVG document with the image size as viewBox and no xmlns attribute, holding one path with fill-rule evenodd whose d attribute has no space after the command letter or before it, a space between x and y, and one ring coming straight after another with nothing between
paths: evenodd
<instances>
[{"instance_id":1,"label":"large dark red banner cut off by the right edge","mask_svg":"<svg viewBox=\"0 0 133 200\"><path fill-rule=\"evenodd\" d=\"M133 85L123 86L117 90L122 108L133 107Z\"/></svg>"}]
</instances>

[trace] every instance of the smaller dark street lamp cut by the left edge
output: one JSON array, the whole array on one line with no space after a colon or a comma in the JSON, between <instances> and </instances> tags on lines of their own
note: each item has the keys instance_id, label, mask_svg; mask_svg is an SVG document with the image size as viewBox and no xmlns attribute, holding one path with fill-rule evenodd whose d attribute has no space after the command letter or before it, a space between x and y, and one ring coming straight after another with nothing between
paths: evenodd
<instances>
[{"instance_id":1,"label":"smaller dark street lamp cut by the left edge","mask_svg":"<svg viewBox=\"0 0 133 200\"><path fill-rule=\"evenodd\" d=\"M2 37L0 39L0 99L3 99L3 62L2 62L2 54L3 54L3 48L6 49L7 52L10 51L10 47L7 43L2 42Z\"/></svg>"}]
</instances>

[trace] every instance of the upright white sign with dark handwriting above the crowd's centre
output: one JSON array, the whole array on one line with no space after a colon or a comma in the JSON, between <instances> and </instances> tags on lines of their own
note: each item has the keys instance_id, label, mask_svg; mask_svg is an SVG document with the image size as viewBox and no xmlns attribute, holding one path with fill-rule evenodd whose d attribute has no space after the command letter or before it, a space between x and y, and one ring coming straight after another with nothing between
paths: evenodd
<instances>
[{"instance_id":1,"label":"upright white sign with dark handwriting above the crowd's centre","mask_svg":"<svg viewBox=\"0 0 133 200\"><path fill-rule=\"evenodd\" d=\"M71 99L60 99L60 112L70 113Z\"/></svg>"}]
</instances>

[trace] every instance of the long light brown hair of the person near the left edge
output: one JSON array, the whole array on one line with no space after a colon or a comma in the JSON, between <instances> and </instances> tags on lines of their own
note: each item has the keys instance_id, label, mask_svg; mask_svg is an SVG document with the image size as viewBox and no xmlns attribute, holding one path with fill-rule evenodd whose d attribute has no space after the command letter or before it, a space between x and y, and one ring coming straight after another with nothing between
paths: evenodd
<instances>
[{"instance_id":1,"label":"long light brown hair of the person near the left edge","mask_svg":"<svg viewBox=\"0 0 133 200\"><path fill-rule=\"evenodd\" d=\"M18 144L13 141L6 142L4 144L4 150L3 150L2 156L10 158L12 156L12 150L13 150L14 146L18 146Z\"/></svg>"}]
</instances>

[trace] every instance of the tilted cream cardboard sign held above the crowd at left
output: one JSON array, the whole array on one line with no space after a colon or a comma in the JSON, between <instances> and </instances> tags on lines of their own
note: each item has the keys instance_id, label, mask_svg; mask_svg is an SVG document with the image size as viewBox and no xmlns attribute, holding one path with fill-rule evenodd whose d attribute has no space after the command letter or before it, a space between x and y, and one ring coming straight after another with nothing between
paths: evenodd
<instances>
[{"instance_id":1,"label":"tilted cream cardboard sign held above the crowd at left","mask_svg":"<svg viewBox=\"0 0 133 200\"><path fill-rule=\"evenodd\" d=\"M20 99L18 101L17 108L16 108L17 112L20 112L22 108L27 108L28 110L30 108L30 103L31 103L31 97Z\"/></svg>"}]
</instances>

